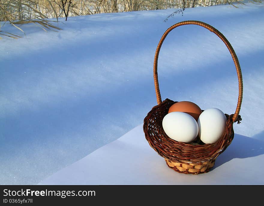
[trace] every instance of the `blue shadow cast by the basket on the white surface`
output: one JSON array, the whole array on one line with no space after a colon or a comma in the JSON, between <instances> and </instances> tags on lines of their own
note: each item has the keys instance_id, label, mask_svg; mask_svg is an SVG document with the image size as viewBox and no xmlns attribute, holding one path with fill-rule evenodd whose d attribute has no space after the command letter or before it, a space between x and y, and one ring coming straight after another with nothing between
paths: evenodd
<instances>
[{"instance_id":1,"label":"blue shadow cast by the basket on the white surface","mask_svg":"<svg viewBox=\"0 0 264 206\"><path fill-rule=\"evenodd\" d=\"M261 154L264 154L264 141L235 134L231 144L216 158L214 167L211 170L235 158L243 159Z\"/></svg>"}]
</instances>

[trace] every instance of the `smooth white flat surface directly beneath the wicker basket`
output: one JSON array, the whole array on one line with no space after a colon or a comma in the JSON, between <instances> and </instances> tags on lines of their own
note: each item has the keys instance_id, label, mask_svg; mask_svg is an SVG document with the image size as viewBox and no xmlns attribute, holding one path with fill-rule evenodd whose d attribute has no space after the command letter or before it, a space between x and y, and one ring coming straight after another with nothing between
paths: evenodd
<instances>
[{"instance_id":1,"label":"smooth white flat surface directly beneath the wicker basket","mask_svg":"<svg viewBox=\"0 0 264 206\"><path fill-rule=\"evenodd\" d=\"M170 169L135 127L38 185L259 185L264 184L264 141L235 134L210 172L185 175ZM258 177L259 178L256 178Z\"/></svg>"}]
</instances>

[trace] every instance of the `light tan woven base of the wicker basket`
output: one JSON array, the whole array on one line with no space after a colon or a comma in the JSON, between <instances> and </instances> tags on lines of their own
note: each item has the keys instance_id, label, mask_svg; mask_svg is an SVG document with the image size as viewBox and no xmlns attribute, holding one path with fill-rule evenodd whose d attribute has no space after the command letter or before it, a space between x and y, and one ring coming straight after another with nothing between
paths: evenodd
<instances>
[{"instance_id":1,"label":"light tan woven base of the wicker basket","mask_svg":"<svg viewBox=\"0 0 264 206\"><path fill-rule=\"evenodd\" d=\"M209 172L214 166L215 159L198 163L178 163L165 159L167 166L179 173L198 175Z\"/></svg>"}]
</instances>

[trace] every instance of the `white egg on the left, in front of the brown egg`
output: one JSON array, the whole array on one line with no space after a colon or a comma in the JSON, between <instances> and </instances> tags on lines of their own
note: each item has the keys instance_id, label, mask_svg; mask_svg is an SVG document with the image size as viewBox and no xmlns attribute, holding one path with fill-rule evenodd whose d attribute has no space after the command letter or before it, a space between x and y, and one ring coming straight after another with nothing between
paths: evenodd
<instances>
[{"instance_id":1,"label":"white egg on the left, in front of the brown egg","mask_svg":"<svg viewBox=\"0 0 264 206\"><path fill-rule=\"evenodd\" d=\"M198 135L196 120L185 112L170 112L162 120L164 132L178 142L192 142Z\"/></svg>"}]
</instances>

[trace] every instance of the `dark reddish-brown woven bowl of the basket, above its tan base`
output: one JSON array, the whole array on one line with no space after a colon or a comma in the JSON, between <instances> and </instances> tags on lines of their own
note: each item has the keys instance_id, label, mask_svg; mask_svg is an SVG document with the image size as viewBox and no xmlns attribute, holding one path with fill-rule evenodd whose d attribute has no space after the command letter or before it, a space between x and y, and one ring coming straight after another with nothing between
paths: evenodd
<instances>
[{"instance_id":1,"label":"dark reddish-brown woven bowl of the basket, above its tan base","mask_svg":"<svg viewBox=\"0 0 264 206\"><path fill-rule=\"evenodd\" d=\"M169 107L176 103L170 99L156 105L144 118L143 130L149 145L167 160L181 163L199 163L215 159L231 143L234 137L232 115L226 115L226 131L213 144L193 145L171 139L164 132L162 119ZM157 112L158 111L158 112Z\"/></svg>"}]
</instances>

